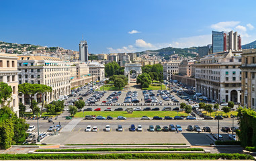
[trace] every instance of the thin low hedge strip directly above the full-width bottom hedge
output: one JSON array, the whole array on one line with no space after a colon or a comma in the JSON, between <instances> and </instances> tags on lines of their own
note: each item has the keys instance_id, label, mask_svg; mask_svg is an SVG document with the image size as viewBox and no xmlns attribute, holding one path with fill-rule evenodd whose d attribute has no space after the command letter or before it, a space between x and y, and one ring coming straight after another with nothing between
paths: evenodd
<instances>
[{"instance_id":1,"label":"thin low hedge strip directly above the full-width bottom hedge","mask_svg":"<svg viewBox=\"0 0 256 161\"><path fill-rule=\"evenodd\" d=\"M93 149L43 149L36 152L124 152L124 151L204 151L202 148L93 148Z\"/></svg>"}]
</instances>

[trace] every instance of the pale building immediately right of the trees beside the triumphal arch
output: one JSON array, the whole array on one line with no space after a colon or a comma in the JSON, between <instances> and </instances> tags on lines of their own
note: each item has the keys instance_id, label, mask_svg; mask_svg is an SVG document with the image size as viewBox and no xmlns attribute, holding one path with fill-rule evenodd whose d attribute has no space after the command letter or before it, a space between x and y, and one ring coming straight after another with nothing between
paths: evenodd
<instances>
[{"instance_id":1,"label":"pale building immediately right of the trees beside the triumphal arch","mask_svg":"<svg viewBox=\"0 0 256 161\"><path fill-rule=\"evenodd\" d=\"M181 60L172 60L163 64L163 77L165 80L171 80L173 74L179 73L179 64L181 64L181 62Z\"/></svg>"}]
</instances>

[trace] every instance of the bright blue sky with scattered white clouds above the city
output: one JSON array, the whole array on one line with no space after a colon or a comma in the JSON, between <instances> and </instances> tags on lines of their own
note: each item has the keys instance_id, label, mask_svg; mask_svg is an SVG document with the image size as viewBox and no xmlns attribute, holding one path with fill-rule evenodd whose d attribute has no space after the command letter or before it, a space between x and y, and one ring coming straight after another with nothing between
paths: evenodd
<instances>
[{"instance_id":1,"label":"bright blue sky with scattered white clouds above the city","mask_svg":"<svg viewBox=\"0 0 256 161\"><path fill-rule=\"evenodd\" d=\"M137 52L211 44L211 32L256 40L256 1L0 0L0 40L89 53ZM129 34L130 33L130 34Z\"/></svg>"}]
</instances>

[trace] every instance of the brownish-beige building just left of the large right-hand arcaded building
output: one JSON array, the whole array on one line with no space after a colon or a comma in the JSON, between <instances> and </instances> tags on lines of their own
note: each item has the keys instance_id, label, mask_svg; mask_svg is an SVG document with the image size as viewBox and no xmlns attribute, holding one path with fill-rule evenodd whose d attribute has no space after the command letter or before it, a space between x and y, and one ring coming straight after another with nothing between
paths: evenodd
<instances>
[{"instance_id":1,"label":"brownish-beige building just left of the large right-hand arcaded building","mask_svg":"<svg viewBox=\"0 0 256 161\"><path fill-rule=\"evenodd\" d=\"M181 64L179 64L179 74L183 76L195 76L196 67L194 63L196 60L183 60Z\"/></svg>"}]
</instances>

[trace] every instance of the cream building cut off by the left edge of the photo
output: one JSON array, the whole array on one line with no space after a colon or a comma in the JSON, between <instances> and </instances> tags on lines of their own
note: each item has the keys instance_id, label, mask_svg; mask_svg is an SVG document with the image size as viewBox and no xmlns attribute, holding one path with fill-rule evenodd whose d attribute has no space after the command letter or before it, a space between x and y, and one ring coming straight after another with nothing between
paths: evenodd
<instances>
[{"instance_id":1,"label":"cream building cut off by the left edge of the photo","mask_svg":"<svg viewBox=\"0 0 256 161\"><path fill-rule=\"evenodd\" d=\"M19 115L19 100L17 98L18 81L17 74L17 55L0 53L0 82L7 83L11 86L12 96L9 107L13 107L14 113ZM1 105L0 105L1 107Z\"/></svg>"}]
</instances>

